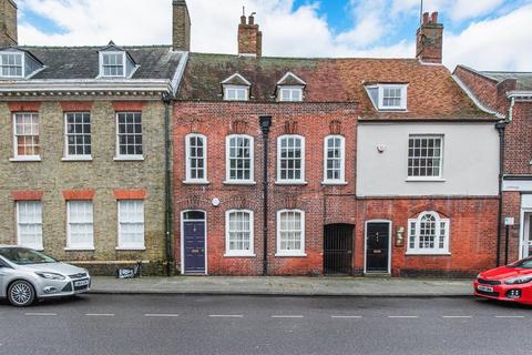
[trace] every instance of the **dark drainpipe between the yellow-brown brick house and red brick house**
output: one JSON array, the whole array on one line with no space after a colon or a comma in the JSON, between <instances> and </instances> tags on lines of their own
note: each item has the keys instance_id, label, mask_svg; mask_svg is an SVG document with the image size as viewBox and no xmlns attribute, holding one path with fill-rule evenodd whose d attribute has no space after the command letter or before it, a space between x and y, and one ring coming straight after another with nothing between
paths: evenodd
<instances>
[{"instance_id":1,"label":"dark drainpipe between the yellow-brown brick house and red brick house","mask_svg":"<svg viewBox=\"0 0 532 355\"><path fill-rule=\"evenodd\" d=\"M164 102L164 210L165 210L165 237L166 237L166 275L172 275L174 253L172 251L172 171L171 171L171 129L170 109L172 98L168 94L163 97Z\"/></svg>"}]
</instances>

